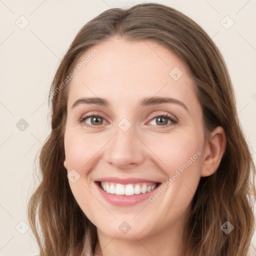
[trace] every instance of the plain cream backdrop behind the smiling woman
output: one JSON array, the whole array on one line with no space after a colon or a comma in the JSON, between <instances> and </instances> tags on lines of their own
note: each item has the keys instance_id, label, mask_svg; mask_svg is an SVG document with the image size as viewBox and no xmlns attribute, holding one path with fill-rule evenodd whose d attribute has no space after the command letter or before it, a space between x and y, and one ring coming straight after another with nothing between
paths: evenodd
<instances>
[{"instance_id":1,"label":"plain cream backdrop behind the smiling woman","mask_svg":"<svg viewBox=\"0 0 256 256\"><path fill-rule=\"evenodd\" d=\"M0 0L0 256L38 254L26 207L38 184L33 163L50 131L46 95L61 57L84 23L108 8L142 2L150 1ZM154 2L188 15L220 49L255 159L256 1Z\"/></svg>"}]
</instances>

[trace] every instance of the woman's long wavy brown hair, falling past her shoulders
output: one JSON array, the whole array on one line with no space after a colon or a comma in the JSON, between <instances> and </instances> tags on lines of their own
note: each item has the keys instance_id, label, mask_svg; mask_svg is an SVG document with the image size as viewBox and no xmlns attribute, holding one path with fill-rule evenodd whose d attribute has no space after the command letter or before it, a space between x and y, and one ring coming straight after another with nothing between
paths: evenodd
<instances>
[{"instance_id":1,"label":"woman's long wavy brown hair, falling past her shoulders","mask_svg":"<svg viewBox=\"0 0 256 256\"><path fill-rule=\"evenodd\" d=\"M193 20L171 7L144 3L128 9L108 9L87 22L55 73L50 89L51 133L39 157L42 178L27 209L40 256L77 256L83 248L93 255L96 227L76 203L63 166L67 85L62 82L81 54L114 35L127 40L151 39L174 52L195 82L205 134L216 126L225 130L226 150L218 169L200 178L194 194L184 227L183 255L247 255L254 231L255 166L239 124L225 62ZM229 234L221 230L225 221L234 226Z\"/></svg>"}]
</instances>

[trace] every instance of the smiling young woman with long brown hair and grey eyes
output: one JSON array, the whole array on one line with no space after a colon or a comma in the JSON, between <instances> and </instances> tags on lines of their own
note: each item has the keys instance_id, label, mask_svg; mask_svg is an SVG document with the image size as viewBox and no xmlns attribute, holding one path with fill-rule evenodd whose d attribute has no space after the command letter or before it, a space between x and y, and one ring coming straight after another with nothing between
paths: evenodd
<instances>
[{"instance_id":1,"label":"smiling young woman with long brown hair and grey eyes","mask_svg":"<svg viewBox=\"0 0 256 256\"><path fill-rule=\"evenodd\" d=\"M74 38L49 98L28 207L41 256L249 254L255 167L198 24L156 3L106 10Z\"/></svg>"}]
</instances>

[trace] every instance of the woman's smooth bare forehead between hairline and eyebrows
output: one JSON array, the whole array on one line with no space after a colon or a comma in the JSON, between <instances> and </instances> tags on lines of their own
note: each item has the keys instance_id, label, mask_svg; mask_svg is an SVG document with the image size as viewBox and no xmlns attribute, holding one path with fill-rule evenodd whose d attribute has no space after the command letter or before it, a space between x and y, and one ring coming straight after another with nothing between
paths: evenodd
<instances>
[{"instance_id":1,"label":"woman's smooth bare forehead between hairline and eyebrows","mask_svg":"<svg viewBox=\"0 0 256 256\"><path fill-rule=\"evenodd\" d=\"M196 101L186 65L153 40L110 38L87 49L75 69L77 74L68 88L68 107L82 96L104 97L118 105L148 95Z\"/></svg>"}]
</instances>

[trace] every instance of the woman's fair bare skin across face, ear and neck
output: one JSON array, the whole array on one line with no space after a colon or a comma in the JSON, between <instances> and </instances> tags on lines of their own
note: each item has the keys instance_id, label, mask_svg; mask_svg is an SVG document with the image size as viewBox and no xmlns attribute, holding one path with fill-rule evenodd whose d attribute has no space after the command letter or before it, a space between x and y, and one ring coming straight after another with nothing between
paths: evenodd
<instances>
[{"instance_id":1,"label":"woman's fair bare skin across face, ear and neck","mask_svg":"<svg viewBox=\"0 0 256 256\"><path fill-rule=\"evenodd\" d=\"M94 45L77 61L97 48L99 52L71 80L68 87L64 134L64 166L80 177L70 182L72 193L84 214L97 227L98 255L181 255L183 224L201 176L211 175L225 149L225 135L216 127L204 138L202 109L186 65L169 49L155 41L127 41L112 37ZM169 72L178 67L182 76ZM168 96L183 102L141 107L147 96ZM106 98L110 105L78 104L81 97ZM100 114L102 124L92 118L79 122L86 113ZM164 123L153 114L169 114L178 121ZM126 118L127 131L118 123ZM87 127L98 125L97 127ZM171 123L171 125L169 125ZM157 180L164 184L196 152L200 156L168 186L155 201L134 206L116 206L105 201L94 182L117 176ZM130 230L123 234L123 221Z\"/></svg>"}]
</instances>

